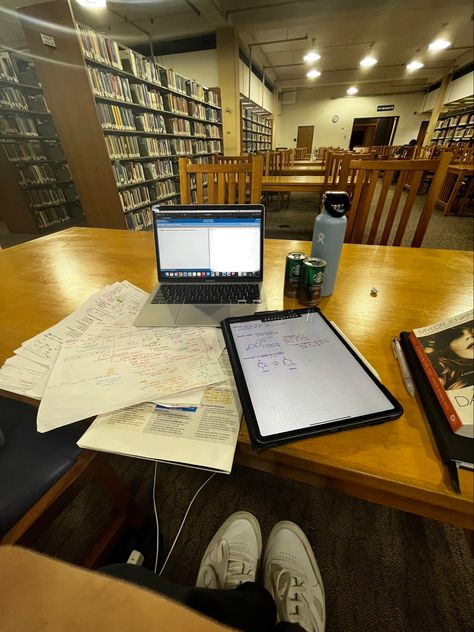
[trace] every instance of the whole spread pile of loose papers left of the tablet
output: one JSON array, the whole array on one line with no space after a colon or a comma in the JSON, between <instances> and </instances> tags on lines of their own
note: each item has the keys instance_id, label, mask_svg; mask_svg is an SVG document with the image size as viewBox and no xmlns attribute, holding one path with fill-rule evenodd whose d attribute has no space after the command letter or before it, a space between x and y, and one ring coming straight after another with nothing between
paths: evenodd
<instances>
[{"instance_id":1,"label":"whole spread pile of loose papers left of the tablet","mask_svg":"<svg viewBox=\"0 0 474 632\"><path fill-rule=\"evenodd\" d=\"M127 281L24 342L0 388L40 399L39 432L99 415L81 447L230 471L241 408L215 328L134 327Z\"/></svg>"}]
</instances>

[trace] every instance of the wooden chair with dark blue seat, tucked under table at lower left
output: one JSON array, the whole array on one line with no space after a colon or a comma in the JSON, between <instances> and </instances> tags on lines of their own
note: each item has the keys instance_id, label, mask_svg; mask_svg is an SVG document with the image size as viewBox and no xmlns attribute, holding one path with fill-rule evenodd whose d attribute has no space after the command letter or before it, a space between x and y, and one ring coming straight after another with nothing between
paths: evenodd
<instances>
[{"instance_id":1,"label":"wooden chair with dark blue seat, tucked under table at lower left","mask_svg":"<svg viewBox=\"0 0 474 632\"><path fill-rule=\"evenodd\" d=\"M76 441L89 422L46 433L36 431L37 408L0 397L0 542L31 546L89 483L97 483L113 507L113 518L83 561L96 565L123 527L138 528L140 510L102 454Z\"/></svg>"}]
</instances>

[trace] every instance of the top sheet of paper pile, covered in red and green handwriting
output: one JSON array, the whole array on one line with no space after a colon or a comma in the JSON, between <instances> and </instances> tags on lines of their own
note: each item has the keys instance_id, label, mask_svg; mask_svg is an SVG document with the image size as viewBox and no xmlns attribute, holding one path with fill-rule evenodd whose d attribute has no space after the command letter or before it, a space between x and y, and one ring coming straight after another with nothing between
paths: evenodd
<instances>
[{"instance_id":1,"label":"top sheet of paper pile, covered in red and green handwriting","mask_svg":"<svg viewBox=\"0 0 474 632\"><path fill-rule=\"evenodd\" d=\"M63 344L41 401L38 430L222 382L217 349L213 328L95 324Z\"/></svg>"}]
</instances>

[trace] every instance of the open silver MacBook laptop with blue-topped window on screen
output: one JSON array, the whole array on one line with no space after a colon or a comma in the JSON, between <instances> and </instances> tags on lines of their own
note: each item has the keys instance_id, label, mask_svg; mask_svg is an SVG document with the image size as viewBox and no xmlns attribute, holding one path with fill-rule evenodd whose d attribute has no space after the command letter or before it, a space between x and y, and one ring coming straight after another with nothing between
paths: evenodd
<instances>
[{"instance_id":1,"label":"open silver MacBook laptop with blue-topped window on screen","mask_svg":"<svg viewBox=\"0 0 474 632\"><path fill-rule=\"evenodd\" d=\"M153 206L158 285L136 326L218 326L265 311L261 204Z\"/></svg>"}]
</instances>

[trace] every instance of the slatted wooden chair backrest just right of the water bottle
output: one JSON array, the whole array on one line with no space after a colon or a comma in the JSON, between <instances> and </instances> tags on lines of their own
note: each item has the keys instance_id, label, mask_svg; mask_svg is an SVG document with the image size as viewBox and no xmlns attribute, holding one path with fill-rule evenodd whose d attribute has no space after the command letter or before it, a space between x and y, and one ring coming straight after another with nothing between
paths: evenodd
<instances>
[{"instance_id":1,"label":"slatted wooden chair backrest just right of the water bottle","mask_svg":"<svg viewBox=\"0 0 474 632\"><path fill-rule=\"evenodd\" d=\"M422 208L410 244L412 247L421 246L450 160L451 154L446 152L439 160L351 161L350 169L355 172L355 187L345 241L387 245L397 220L392 245L400 246L423 175L427 171L433 171L435 175L426 196L422 198L424 203L420 204ZM382 233L378 238L379 227Z\"/></svg>"}]
</instances>

